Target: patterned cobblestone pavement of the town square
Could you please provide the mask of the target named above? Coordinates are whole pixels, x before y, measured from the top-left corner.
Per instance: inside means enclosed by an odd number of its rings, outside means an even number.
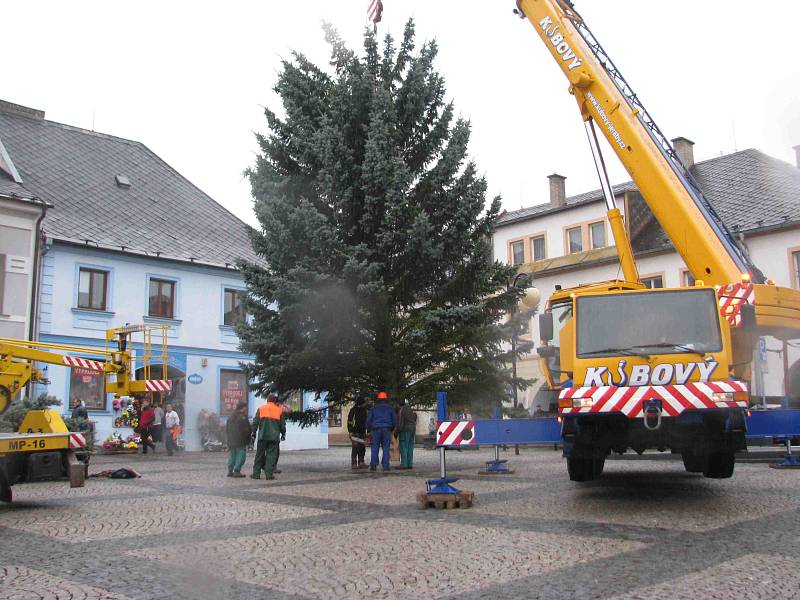
[[[476,493],[451,511],[416,507],[438,468],[422,449],[388,474],[351,472],[346,448],[284,452],[270,482],[225,477],[224,454],[96,457],[143,477],[0,504],[0,599],[800,597],[800,471],[610,460],[576,484],[542,449],[478,475],[491,454],[448,452]]]

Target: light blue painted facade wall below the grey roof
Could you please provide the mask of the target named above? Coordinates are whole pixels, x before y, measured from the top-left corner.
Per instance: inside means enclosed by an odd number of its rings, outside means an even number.
[[[107,273],[105,310],[78,306],[78,281],[81,268]],[[170,319],[148,315],[148,289],[151,278],[170,281],[174,288],[174,311]],[[241,370],[251,357],[238,349],[239,339],[232,327],[223,324],[225,289],[243,290],[239,273],[192,263],[114,252],[89,246],[53,243],[42,258],[39,294],[38,339],[43,342],[105,347],[105,330],[125,324],[166,324],[169,345],[169,377],[175,393],[184,394],[184,439],[189,450],[200,448],[197,416],[201,410],[220,413],[225,384],[223,371]],[[57,365],[41,365],[49,385],[38,392],[64,401],[70,397],[70,370]],[[72,378],[74,380],[74,377]],[[105,395],[103,408],[90,409],[95,421],[97,441],[115,431],[119,416]],[[261,399],[248,393],[249,414]],[[123,436],[131,430],[117,429]],[[300,429],[289,425],[285,449],[326,448],[327,424]]]

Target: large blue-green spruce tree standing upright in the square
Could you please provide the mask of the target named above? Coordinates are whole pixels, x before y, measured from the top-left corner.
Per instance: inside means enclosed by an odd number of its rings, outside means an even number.
[[[437,45],[416,50],[413,21],[399,47],[365,32],[363,56],[325,31],[329,68],[283,61],[283,115],[265,110],[248,171],[263,257],[241,265],[253,385],[328,392],[332,405],[378,390],[417,406],[437,390],[496,401],[511,385],[505,342],[530,315],[507,319],[522,290],[492,258],[500,199],[486,209]]]

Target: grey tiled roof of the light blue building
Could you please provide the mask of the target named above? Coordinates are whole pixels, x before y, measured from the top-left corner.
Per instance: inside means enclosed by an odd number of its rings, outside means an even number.
[[[25,188],[55,205],[48,237],[219,266],[260,262],[248,225],[140,142],[2,111],[0,139]]]

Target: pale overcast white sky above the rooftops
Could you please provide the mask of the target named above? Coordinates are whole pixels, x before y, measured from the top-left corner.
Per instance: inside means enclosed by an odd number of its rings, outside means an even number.
[[[508,210],[598,186],[567,83],[513,0],[383,0],[379,33],[436,38],[439,70],[472,122],[470,153]],[[577,0],[576,8],[670,138],[703,160],[758,148],[794,163],[800,144],[800,3]],[[326,64],[321,22],[360,48],[368,0],[25,0],[2,7],[0,98],[48,119],[146,144],[255,223],[242,171],[262,106],[293,49]],[[607,150],[613,183],[628,179]]]

